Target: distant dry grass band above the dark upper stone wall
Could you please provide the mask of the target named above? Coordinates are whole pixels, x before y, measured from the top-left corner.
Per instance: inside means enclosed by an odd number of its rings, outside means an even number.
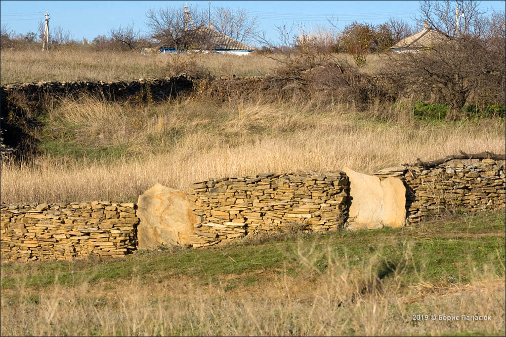
[[[162,78],[198,68],[216,76],[258,76],[277,61],[261,55],[141,55],[93,51],[2,51],[2,84],[32,81],[118,81]]]

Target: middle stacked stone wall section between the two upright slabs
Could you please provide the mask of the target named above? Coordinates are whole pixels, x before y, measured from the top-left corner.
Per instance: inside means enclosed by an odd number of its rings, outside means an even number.
[[[298,171],[212,179],[194,183],[188,200],[200,223],[194,247],[226,243],[248,234],[337,229],[347,218],[349,192],[344,172]]]

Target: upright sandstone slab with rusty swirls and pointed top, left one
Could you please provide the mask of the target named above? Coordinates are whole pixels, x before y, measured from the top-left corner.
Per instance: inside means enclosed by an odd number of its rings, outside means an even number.
[[[188,245],[196,216],[185,192],[156,184],[139,196],[137,228],[139,249],[167,245]]]

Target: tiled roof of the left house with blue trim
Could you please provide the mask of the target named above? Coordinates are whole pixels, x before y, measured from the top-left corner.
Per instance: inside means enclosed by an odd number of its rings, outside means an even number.
[[[252,51],[253,47],[223,35],[205,26],[185,31],[179,45],[191,45],[193,48],[215,51]],[[176,43],[164,44],[160,48],[174,48]]]

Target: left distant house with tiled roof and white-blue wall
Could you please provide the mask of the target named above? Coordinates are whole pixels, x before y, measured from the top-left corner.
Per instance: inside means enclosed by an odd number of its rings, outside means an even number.
[[[211,26],[212,27],[212,26]],[[200,53],[248,55],[254,48],[211,27],[185,30],[177,41],[159,47],[160,54],[196,51]]]

